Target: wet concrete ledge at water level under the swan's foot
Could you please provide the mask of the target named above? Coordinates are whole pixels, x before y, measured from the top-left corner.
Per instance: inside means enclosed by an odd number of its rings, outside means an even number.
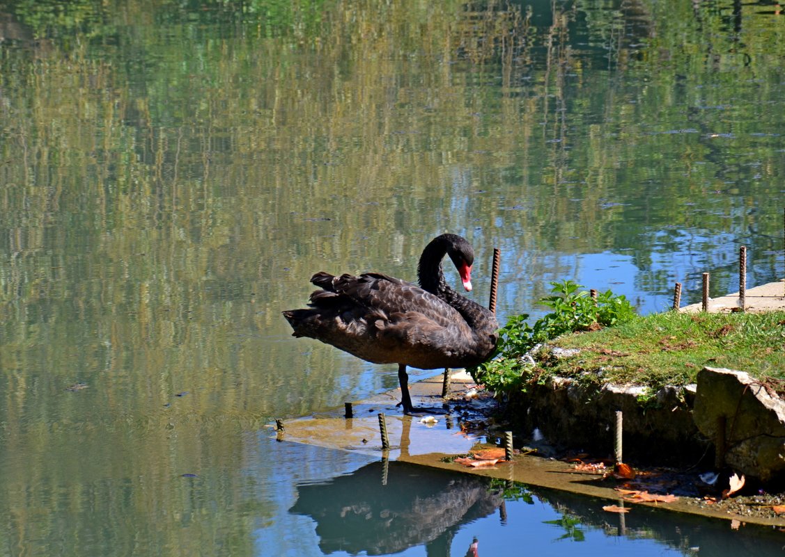
[[[487,395],[468,398],[475,386],[468,374],[453,372],[451,395],[448,401],[441,398],[442,375],[411,383],[412,400],[417,406],[442,407],[445,414],[404,416],[396,403],[400,392],[392,390],[369,400],[352,405],[353,418],[345,418],[343,409],[297,418],[284,423],[283,432],[277,432],[284,442],[307,443],[335,450],[351,450],[363,454],[389,458],[391,461],[410,462],[432,468],[442,468],[491,478],[513,480],[531,486],[542,486],[571,493],[602,497],[622,505],[653,505],[675,512],[688,512],[721,519],[736,519],[744,523],[757,523],[785,527],[785,517],[747,514],[743,505],[714,504],[698,494],[680,495],[674,502],[636,502],[623,499],[617,488],[636,487],[639,490],[658,491],[657,486],[674,486],[668,493],[679,494],[684,490],[678,486],[692,479],[680,479],[676,472],[644,472],[648,477],[640,482],[615,479],[606,468],[597,473],[576,469],[570,461],[544,456],[546,447],[537,447],[528,454],[530,447],[517,449],[512,461],[498,461],[495,465],[469,468],[455,461],[458,455],[474,450],[498,447],[493,442],[502,435],[499,426],[493,423],[492,410],[495,402]],[[378,414],[385,414],[389,437],[389,450],[382,450]],[[435,421],[434,421],[435,420]],[[651,485],[647,488],[647,481]],[[683,487],[683,486],[682,486]],[[665,490],[660,489],[663,494]],[[769,513],[773,515],[774,513]]]

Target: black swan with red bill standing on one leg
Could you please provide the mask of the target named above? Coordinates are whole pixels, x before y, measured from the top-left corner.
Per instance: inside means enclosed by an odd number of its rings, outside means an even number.
[[[309,309],[283,312],[295,337],[316,338],[371,363],[397,363],[403,412],[414,407],[406,367],[467,367],[493,353],[498,324],[490,310],[447,285],[449,255],[464,288],[472,289],[474,251],[466,239],[442,234],[422,251],[418,287],[382,273],[316,273]]]

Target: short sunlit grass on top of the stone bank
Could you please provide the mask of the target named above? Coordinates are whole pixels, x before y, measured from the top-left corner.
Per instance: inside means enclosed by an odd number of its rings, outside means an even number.
[[[596,382],[686,385],[701,368],[728,367],[785,386],[785,312],[656,313],[550,342],[580,349],[540,363],[540,374]],[[779,387],[779,388],[778,388]]]

